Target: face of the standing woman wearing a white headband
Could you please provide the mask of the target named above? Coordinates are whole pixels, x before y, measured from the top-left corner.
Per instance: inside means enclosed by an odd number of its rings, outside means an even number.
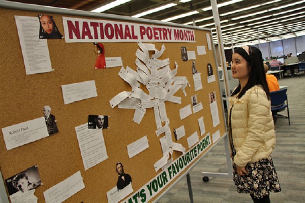
[[[238,80],[248,79],[250,67],[248,62],[238,53],[233,53],[231,64],[232,77]]]

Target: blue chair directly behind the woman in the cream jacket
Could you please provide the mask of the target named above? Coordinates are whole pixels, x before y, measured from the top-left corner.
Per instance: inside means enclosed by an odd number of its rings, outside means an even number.
[[[289,117],[289,107],[288,107],[288,98],[287,98],[287,89],[280,89],[278,91],[270,92],[271,95],[271,111],[275,117],[278,118],[288,118],[288,123],[290,125]],[[286,104],[285,104],[286,101]],[[288,116],[278,114],[279,111],[287,108]]]

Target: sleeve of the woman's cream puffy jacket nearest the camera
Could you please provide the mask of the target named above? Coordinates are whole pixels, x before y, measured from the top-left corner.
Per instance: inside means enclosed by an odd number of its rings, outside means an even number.
[[[265,91],[261,87],[252,89],[248,101],[248,132],[234,157],[236,165],[245,166],[265,142],[264,127],[269,112],[270,101],[267,99]]]

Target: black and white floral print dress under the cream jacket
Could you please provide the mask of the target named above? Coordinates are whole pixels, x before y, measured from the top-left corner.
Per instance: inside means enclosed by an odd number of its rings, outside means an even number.
[[[229,140],[232,151],[232,161],[236,155],[232,138],[231,113],[229,116]],[[263,196],[270,195],[271,191],[280,192],[281,186],[277,176],[275,165],[271,156],[266,159],[259,160],[255,163],[247,163],[245,166],[248,175],[239,176],[236,169],[236,164],[233,163],[233,181],[237,186],[239,193],[253,194],[254,198],[261,199]]]

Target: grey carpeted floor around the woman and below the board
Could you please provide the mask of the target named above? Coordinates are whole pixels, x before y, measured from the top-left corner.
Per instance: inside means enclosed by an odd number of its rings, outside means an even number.
[[[288,119],[278,118],[276,123],[275,162],[282,191],[270,195],[273,203],[305,202],[305,75],[279,80],[288,85],[288,101],[291,125]],[[286,114],[286,111],[281,112]],[[209,177],[203,182],[201,172],[227,172],[224,142],[218,143],[190,172],[194,202],[239,203],[252,202],[250,195],[236,191],[231,178]],[[186,177],[174,185],[158,203],[190,202]]]

